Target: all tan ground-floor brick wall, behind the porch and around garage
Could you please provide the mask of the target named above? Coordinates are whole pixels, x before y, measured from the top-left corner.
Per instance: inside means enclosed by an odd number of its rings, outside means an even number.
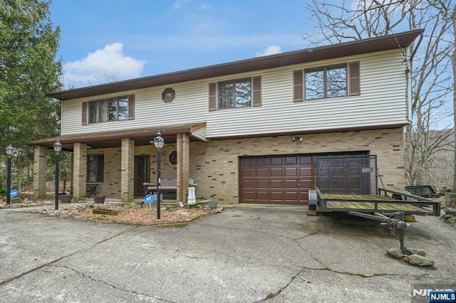
[[[227,139],[212,142],[190,142],[190,177],[198,186],[197,198],[214,198],[220,203],[238,203],[238,157],[284,154],[315,154],[340,151],[368,151],[377,155],[382,183],[391,189],[403,189],[403,130],[383,129],[358,132],[301,135],[303,142],[292,142],[293,136]],[[167,161],[176,144],[162,149],[162,178],[176,178],[177,168]],[[120,198],[121,148],[91,149],[90,154],[105,154],[105,179],[98,192]],[[150,155],[150,179],[157,175],[157,150],[153,145],[135,147],[135,155]]]

